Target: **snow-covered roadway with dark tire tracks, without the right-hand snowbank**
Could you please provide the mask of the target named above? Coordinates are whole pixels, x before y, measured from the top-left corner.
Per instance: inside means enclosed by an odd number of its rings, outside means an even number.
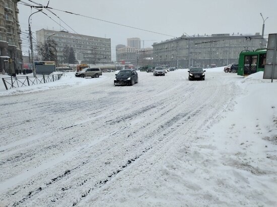
[[[187,70],[138,76],[133,86],[115,87],[114,73],[104,73],[82,84],[2,97],[0,205],[222,206],[242,196],[230,186],[210,191],[215,186],[195,184],[212,177],[193,163],[215,163],[190,151],[233,110],[242,77],[208,71],[204,81],[188,81]],[[197,193],[198,200],[189,198]],[[241,200],[251,195],[246,190]]]

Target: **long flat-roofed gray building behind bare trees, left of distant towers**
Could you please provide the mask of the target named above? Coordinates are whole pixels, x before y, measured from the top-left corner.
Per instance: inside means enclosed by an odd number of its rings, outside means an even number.
[[[1,1],[1,0],[0,0]],[[51,36],[51,37],[50,37]],[[64,31],[41,29],[36,31],[36,39],[47,44],[47,38],[57,43],[57,61],[62,63],[62,51],[67,45],[72,47],[79,63],[108,64],[111,63],[111,39],[73,34]]]

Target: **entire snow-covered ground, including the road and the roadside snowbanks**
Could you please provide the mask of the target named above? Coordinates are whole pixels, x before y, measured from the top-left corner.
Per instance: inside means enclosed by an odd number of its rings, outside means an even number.
[[[276,206],[276,80],[205,74],[1,90],[0,206]]]

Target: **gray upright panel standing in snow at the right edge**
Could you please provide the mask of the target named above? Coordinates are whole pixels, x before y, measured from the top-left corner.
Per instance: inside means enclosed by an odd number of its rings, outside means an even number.
[[[263,79],[277,79],[277,34],[269,34]]]

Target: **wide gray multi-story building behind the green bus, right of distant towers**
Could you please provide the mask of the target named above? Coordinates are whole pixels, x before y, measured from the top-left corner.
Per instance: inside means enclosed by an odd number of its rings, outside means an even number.
[[[265,48],[266,41],[255,35],[213,34],[186,36],[153,44],[154,65],[189,68],[238,63],[242,50]]]

